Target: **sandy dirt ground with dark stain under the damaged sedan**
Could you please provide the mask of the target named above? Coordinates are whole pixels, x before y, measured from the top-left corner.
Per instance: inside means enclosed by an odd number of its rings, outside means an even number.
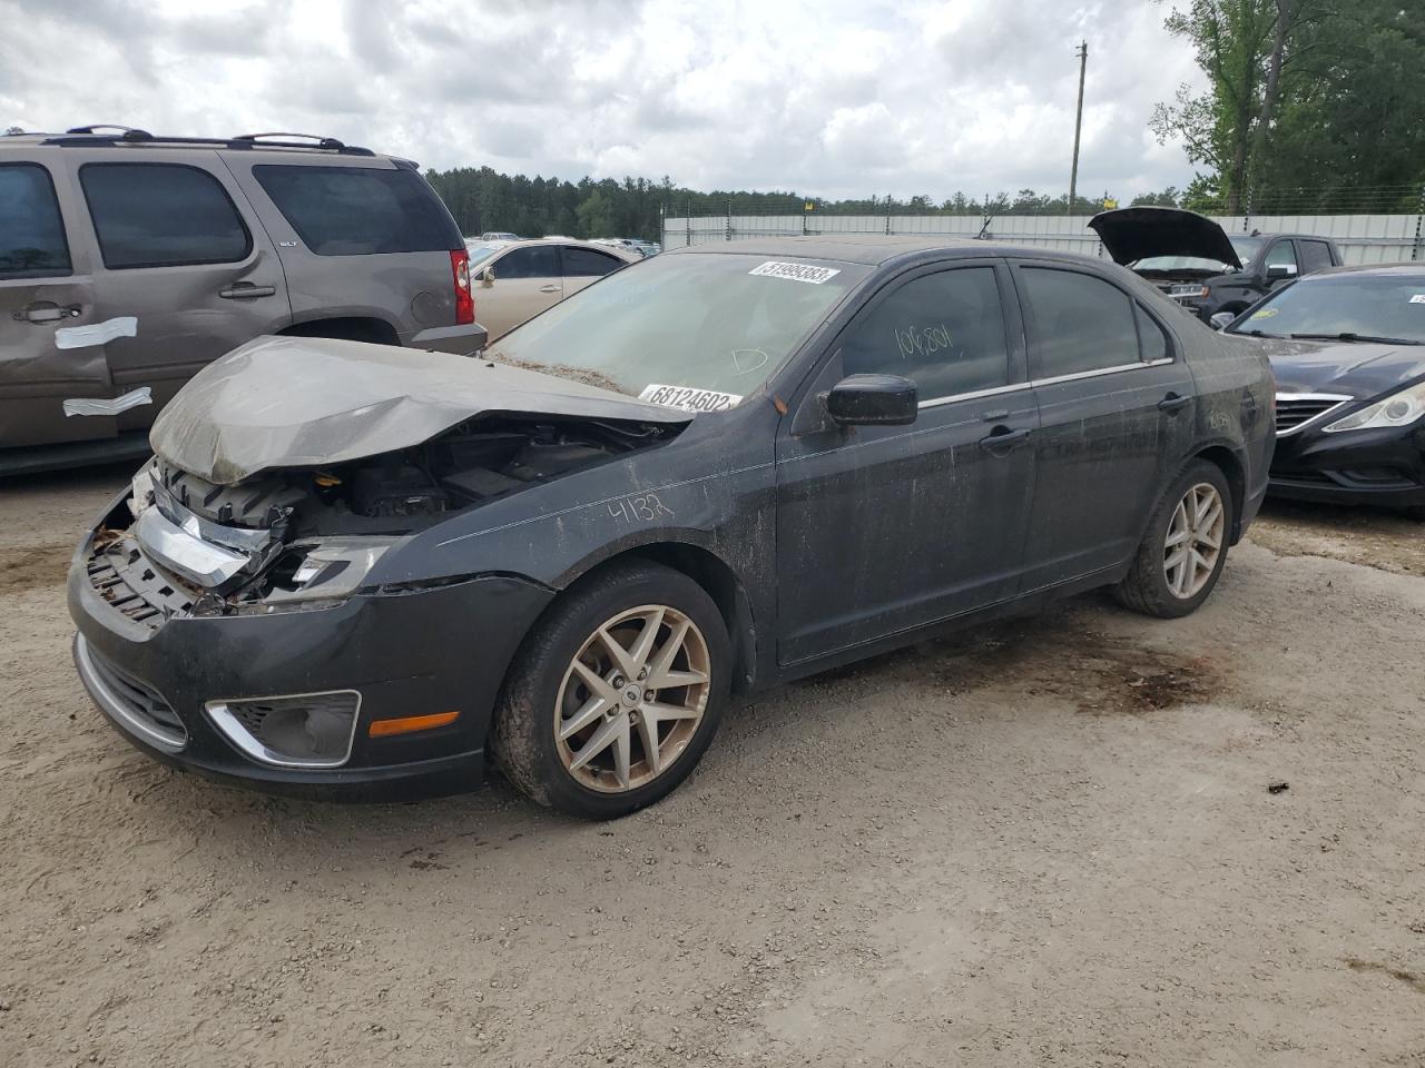
[[[0,1065],[1425,1065],[1416,524],[1273,507],[1193,618],[779,689],[594,826],[140,756],[63,598],[125,474],[0,487]]]

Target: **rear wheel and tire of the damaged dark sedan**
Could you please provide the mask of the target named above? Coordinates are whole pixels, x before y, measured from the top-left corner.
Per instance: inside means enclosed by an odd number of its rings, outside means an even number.
[[[1160,619],[1196,612],[1223,574],[1234,518],[1223,470],[1207,460],[1188,463],[1153,510],[1129,574],[1113,588],[1119,604]]]

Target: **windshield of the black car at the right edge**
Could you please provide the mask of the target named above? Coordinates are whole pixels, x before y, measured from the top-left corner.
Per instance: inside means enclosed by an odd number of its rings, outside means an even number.
[[[1425,271],[1305,278],[1278,290],[1228,333],[1425,345]]]

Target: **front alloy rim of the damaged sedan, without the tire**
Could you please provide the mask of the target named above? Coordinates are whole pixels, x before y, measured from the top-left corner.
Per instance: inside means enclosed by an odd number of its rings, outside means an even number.
[[[559,759],[591,790],[634,790],[688,748],[708,703],[708,645],[670,605],[607,619],[574,655],[554,701]]]

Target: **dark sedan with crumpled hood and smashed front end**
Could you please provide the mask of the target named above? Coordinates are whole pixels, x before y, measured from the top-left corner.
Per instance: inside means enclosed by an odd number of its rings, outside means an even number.
[[[734,692],[1093,587],[1193,611],[1273,441],[1265,359],[1121,268],[680,251],[484,359],[285,337],[202,370],[76,553],[74,655],[180,768],[342,796],[493,755],[618,816]]]

